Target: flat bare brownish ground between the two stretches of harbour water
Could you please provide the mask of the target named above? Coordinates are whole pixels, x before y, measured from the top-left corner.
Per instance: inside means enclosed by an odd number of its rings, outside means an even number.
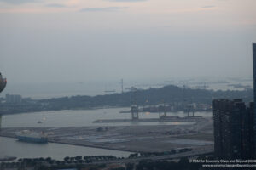
[[[15,132],[24,129],[44,131],[48,133],[49,142],[131,152],[213,149],[212,118],[201,119],[194,125],[99,127],[3,128],[0,135],[15,137]]]

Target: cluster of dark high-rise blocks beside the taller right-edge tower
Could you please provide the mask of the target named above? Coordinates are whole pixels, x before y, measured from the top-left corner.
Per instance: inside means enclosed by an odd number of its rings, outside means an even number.
[[[214,155],[221,159],[253,158],[253,103],[214,99]]]

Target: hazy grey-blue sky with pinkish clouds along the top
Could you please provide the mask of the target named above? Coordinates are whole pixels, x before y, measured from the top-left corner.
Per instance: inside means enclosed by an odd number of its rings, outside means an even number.
[[[9,82],[252,76],[255,0],[0,0]]]

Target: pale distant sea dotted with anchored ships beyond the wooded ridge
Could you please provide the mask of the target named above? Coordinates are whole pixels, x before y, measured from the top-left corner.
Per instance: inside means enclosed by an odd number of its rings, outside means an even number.
[[[154,79],[154,80],[124,80],[124,90],[127,88],[136,87],[140,89],[148,88],[161,88],[167,85],[176,85],[183,87],[183,85],[189,88],[197,88],[204,85],[207,89],[213,90],[242,90],[244,88],[234,88],[228,86],[229,84],[242,84],[249,85],[253,88],[252,77],[237,77],[234,78],[214,78],[214,77],[195,77],[195,78],[171,78],[171,79]],[[75,95],[104,95],[109,94],[106,91],[114,91],[115,93],[121,93],[120,80],[116,81],[90,81],[90,82],[38,82],[38,83],[15,83],[8,82],[8,86],[4,89],[1,96],[5,94],[20,94],[22,97],[31,97],[32,99],[49,99],[65,96]]]

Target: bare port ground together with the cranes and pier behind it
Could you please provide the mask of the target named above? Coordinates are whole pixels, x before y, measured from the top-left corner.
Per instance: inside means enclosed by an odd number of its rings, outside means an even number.
[[[136,94],[136,90],[134,91]],[[213,150],[212,117],[195,116],[187,107],[187,116],[167,116],[165,107],[159,106],[159,118],[139,117],[136,95],[131,105],[130,119],[95,120],[98,126],[87,127],[5,127],[3,137],[16,138],[16,133],[32,131],[47,134],[48,142],[73,144],[130,152],[164,152],[192,149]],[[105,126],[102,122],[108,122]],[[133,122],[132,126],[114,126],[116,122]],[[137,122],[173,122],[171,125],[143,125]]]

